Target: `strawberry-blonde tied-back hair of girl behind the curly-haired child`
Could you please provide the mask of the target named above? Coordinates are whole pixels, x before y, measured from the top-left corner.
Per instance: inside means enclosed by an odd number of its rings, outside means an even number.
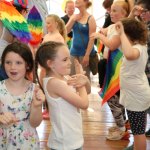
[[[130,6],[129,3],[125,0],[116,0],[113,2],[113,5],[119,5],[122,7],[122,9],[125,11],[126,13],[126,17],[129,15],[130,13]]]

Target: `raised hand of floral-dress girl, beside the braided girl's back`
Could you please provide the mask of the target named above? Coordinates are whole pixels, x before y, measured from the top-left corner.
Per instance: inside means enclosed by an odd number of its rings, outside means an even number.
[[[35,88],[33,96],[33,105],[34,107],[39,107],[45,101],[45,95],[41,89]]]

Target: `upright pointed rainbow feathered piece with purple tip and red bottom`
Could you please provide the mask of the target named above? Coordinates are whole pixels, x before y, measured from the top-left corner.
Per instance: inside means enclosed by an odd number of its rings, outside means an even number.
[[[43,37],[43,22],[39,11],[35,6],[29,12],[28,18],[28,28],[32,35],[29,43],[31,45],[38,45],[42,41]]]

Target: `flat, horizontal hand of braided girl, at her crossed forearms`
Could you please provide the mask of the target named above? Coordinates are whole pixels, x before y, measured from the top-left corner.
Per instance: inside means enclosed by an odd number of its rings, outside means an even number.
[[[88,82],[89,82],[88,77],[83,74],[73,75],[67,81],[68,85],[74,86],[75,88],[85,86]]]

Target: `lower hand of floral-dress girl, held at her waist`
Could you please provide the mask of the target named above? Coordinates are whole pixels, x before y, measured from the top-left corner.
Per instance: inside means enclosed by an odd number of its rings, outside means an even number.
[[[4,114],[0,115],[0,123],[3,125],[11,125],[17,122],[17,118],[14,114],[10,112],[5,112]]]

